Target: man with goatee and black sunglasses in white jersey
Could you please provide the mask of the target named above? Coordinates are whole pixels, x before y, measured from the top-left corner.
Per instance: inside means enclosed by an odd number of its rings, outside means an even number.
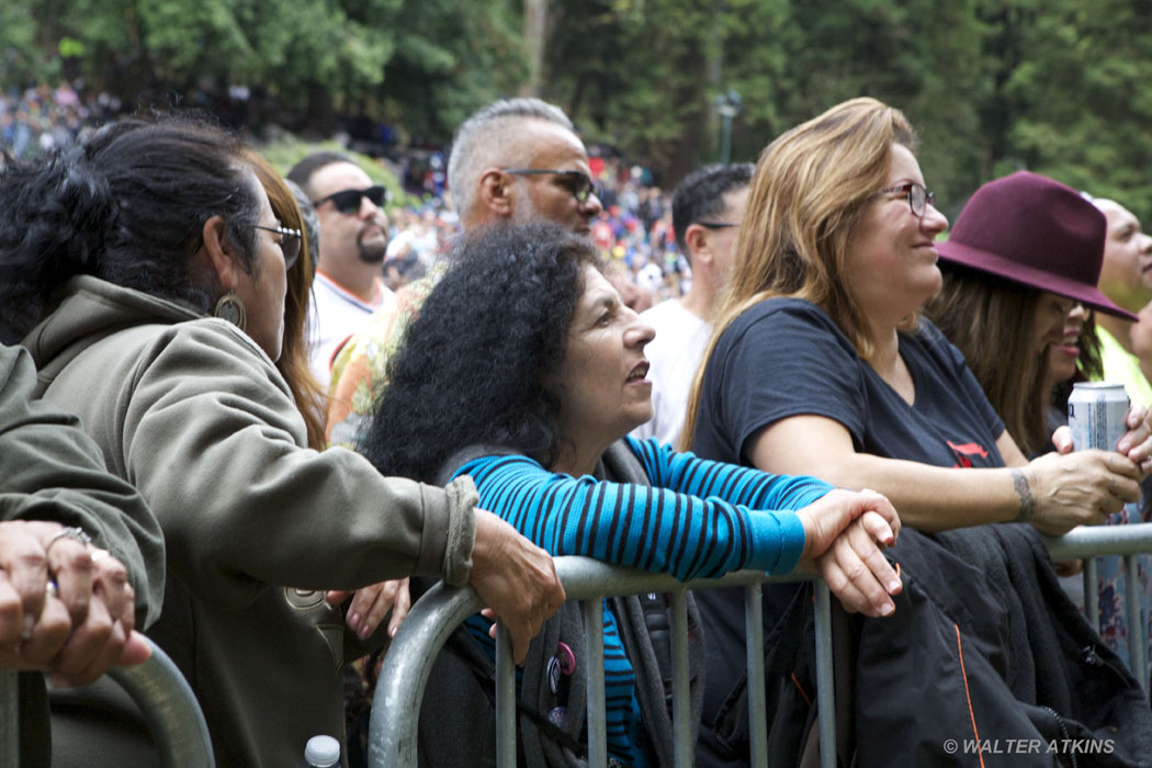
[[[288,178],[308,195],[320,225],[311,368],[326,388],[340,343],[393,301],[382,279],[388,190],[340,152],[313,152],[293,167]]]

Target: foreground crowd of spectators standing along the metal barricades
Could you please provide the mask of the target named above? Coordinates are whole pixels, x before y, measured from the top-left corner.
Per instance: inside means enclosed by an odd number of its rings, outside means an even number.
[[[669,196],[520,98],[458,127],[450,210],[392,207],[340,152],[282,177],[180,115],[9,161],[0,659],[26,687],[21,765],[157,763],[101,677],[146,657],[141,632],[219,765],[294,765],[318,733],[363,765],[372,660],[441,579],[487,607],[433,671],[422,765],[494,763],[498,619],[520,761],[584,765],[586,628],[560,555],[818,573],[843,765],[967,765],[947,746],[965,738],[1079,745],[1013,765],[1105,742],[1107,765],[1147,765],[1127,628],[1090,628],[1040,535],[1147,519],[1152,238],[1018,173],[945,239],[915,152],[899,109],[852,99]],[[1074,446],[1068,382],[1121,375],[1127,432]],[[763,601],[770,750],[798,765],[811,592]],[[744,608],[689,599],[697,765],[750,765]],[[602,603],[620,765],[672,765],[668,611]]]

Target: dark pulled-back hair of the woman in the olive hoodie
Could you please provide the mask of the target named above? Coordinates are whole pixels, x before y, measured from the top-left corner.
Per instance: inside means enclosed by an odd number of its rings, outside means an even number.
[[[243,144],[191,116],[112,123],[78,146],[0,170],[0,341],[16,343],[54,292],[89,274],[205,312],[214,275],[192,263],[203,225],[256,269],[259,198]]]

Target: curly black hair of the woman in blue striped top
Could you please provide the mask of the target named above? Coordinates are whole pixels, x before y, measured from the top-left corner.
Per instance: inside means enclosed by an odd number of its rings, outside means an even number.
[[[594,246],[554,223],[501,223],[465,236],[455,265],[387,366],[359,450],[384,474],[432,482],[454,451],[511,448],[548,466],[560,401],[544,386]]]

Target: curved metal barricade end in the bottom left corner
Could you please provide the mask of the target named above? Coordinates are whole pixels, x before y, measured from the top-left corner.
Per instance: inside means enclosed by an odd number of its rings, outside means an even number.
[[[151,642],[151,640],[149,641]],[[0,671],[0,768],[20,766],[20,701],[16,672]],[[165,768],[214,768],[212,739],[188,680],[164,651],[135,667],[108,670],[132,698],[147,722]]]

